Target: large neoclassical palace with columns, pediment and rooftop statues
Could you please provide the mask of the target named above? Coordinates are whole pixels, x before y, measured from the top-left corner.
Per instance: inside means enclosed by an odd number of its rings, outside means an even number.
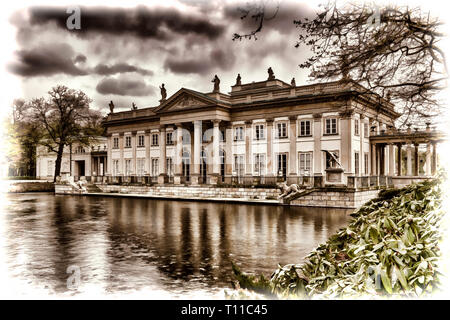
[[[245,84],[239,76],[223,93],[213,81],[212,92],[181,88],[167,98],[163,86],[155,107],[114,112],[111,102],[107,175],[197,185],[232,177],[295,180],[333,166],[345,176],[381,173],[386,157],[376,155],[370,136],[389,130],[399,114],[358,84],[296,86],[269,72],[267,80]]]

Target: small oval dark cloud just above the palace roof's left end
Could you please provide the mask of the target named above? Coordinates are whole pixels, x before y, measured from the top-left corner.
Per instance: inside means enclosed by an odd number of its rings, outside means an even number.
[[[154,95],[155,88],[147,85],[142,80],[105,78],[101,80],[97,87],[97,92],[101,94],[114,94],[119,96],[148,96]]]

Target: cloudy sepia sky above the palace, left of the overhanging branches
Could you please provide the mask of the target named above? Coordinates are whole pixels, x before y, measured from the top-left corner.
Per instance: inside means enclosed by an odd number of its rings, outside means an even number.
[[[69,30],[67,6],[30,6],[16,10],[9,22],[16,30],[16,50],[7,70],[19,77],[22,98],[44,96],[56,84],[83,90],[104,112],[158,105],[159,86],[168,96],[181,87],[212,91],[215,74],[228,93],[242,82],[267,78],[267,68],[286,82],[306,83],[298,64],[307,56],[295,48],[294,19],[312,16],[315,7],[300,1],[266,0],[258,40],[232,41],[234,33],[257,26],[241,19],[247,2],[178,0],[165,5],[80,6],[81,29]],[[251,2],[250,2],[251,3]]]

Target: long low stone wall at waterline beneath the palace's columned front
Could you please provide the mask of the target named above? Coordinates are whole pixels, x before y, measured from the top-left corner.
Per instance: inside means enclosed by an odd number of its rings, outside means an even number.
[[[117,186],[96,184],[104,193],[142,194],[146,196],[173,197],[173,198],[241,198],[275,200],[280,194],[278,189],[269,188],[220,188],[212,186]],[[57,194],[78,194],[71,185],[58,184],[55,189]]]

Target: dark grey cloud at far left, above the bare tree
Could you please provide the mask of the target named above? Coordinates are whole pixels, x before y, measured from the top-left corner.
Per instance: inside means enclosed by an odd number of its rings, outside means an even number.
[[[40,45],[30,50],[16,52],[17,61],[10,63],[10,72],[25,77],[51,76],[54,74],[69,74],[81,76],[85,70],[75,65],[75,52],[68,44]]]

